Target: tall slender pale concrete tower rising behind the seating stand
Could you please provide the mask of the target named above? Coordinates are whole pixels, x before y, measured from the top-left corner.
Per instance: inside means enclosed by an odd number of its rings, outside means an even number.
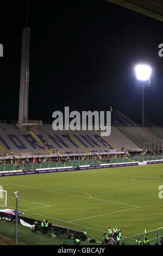
[[[28,123],[30,27],[23,28],[18,125]]]

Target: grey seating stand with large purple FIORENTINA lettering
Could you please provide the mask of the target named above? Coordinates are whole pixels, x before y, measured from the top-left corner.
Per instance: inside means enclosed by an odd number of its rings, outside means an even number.
[[[125,136],[116,127],[111,126],[111,135],[101,137],[101,131],[54,131],[52,124],[44,124],[37,131],[20,130],[14,124],[0,123],[1,155],[42,153],[49,154],[53,150],[59,153],[90,152],[108,149],[139,149],[140,147]],[[43,142],[46,141],[46,148]]]

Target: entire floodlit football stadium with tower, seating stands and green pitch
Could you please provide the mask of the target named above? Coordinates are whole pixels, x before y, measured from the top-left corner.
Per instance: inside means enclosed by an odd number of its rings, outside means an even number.
[[[161,20],[161,11],[141,8]],[[54,130],[53,122],[30,120],[29,52],[27,26],[18,120],[0,120],[0,244],[161,245],[163,126],[145,123],[143,108],[137,124],[110,107],[108,136],[95,123]],[[150,82],[140,78],[139,86]]]

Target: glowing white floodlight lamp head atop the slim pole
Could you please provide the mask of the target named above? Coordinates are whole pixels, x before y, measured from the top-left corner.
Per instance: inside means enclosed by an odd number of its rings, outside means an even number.
[[[151,76],[151,68],[147,65],[137,65],[135,68],[137,80],[146,81]]]

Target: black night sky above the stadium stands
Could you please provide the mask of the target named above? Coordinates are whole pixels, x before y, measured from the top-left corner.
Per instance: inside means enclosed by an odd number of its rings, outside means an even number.
[[[22,28],[26,1],[1,8],[1,120],[18,119]],[[52,121],[65,106],[78,111],[119,109],[141,123],[136,64],[152,66],[145,117],[163,125],[163,22],[104,0],[29,0],[29,119]]]

